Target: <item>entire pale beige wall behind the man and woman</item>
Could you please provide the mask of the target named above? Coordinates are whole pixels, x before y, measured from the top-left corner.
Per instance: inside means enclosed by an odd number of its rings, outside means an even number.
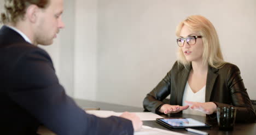
[[[65,2],[66,29],[46,50],[69,95],[142,107],[176,61],[178,22],[200,14],[216,27],[225,61],[240,68],[256,99],[255,0]]]

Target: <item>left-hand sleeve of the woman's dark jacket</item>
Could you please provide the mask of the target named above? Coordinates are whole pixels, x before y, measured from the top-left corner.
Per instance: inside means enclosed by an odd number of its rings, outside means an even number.
[[[177,62],[174,63],[173,67],[177,66]],[[172,67],[172,69],[173,69]],[[153,113],[159,113],[158,110],[165,103],[162,102],[168,95],[170,95],[171,90],[171,72],[168,72],[164,79],[160,81],[156,87],[150,91],[144,98],[143,107],[148,111]]]

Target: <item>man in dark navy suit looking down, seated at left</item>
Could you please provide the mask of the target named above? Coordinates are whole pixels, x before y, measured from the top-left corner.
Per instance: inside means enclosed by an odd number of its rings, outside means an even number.
[[[36,45],[50,45],[61,28],[63,0],[5,0],[0,30],[0,132],[37,134],[40,124],[56,134],[133,134],[135,114],[97,118],[68,97],[53,62]]]

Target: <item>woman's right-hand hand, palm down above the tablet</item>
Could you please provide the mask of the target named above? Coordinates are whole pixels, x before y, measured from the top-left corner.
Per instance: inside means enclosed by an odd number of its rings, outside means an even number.
[[[217,105],[213,102],[191,102],[191,101],[185,101],[188,105],[190,105],[191,109],[201,111],[205,114],[213,114],[217,110]]]

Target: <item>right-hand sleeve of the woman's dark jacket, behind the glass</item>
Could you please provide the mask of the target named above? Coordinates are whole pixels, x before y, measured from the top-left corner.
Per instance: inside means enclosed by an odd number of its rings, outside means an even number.
[[[253,122],[255,120],[255,114],[252,109],[252,102],[248,96],[245,85],[243,84],[239,68],[232,65],[226,78],[232,105],[219,102],[214,103],[217,104],[217,107],[235,107],[236,121]]]

